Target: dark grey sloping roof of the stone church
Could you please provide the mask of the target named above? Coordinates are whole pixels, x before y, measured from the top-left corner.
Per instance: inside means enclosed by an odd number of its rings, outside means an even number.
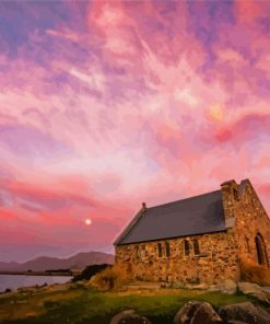
[[[225,231],[221,190],[140,210],[116,245]]]

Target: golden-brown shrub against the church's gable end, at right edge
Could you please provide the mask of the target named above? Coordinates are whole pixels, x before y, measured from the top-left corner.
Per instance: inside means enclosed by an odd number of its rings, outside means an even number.
[[[240,280],[258,284],[260,286],[270,285],[270,268],[258,265],[255,262],[240,261]]]

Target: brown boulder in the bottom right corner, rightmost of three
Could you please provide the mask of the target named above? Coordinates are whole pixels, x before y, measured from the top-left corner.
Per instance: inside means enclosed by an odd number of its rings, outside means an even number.
[[[223,306],[219,310],[219,315],[225,321],[225,323],[232,323],[232,321],[248,324],[270,323],[270,314],[261,308],[256,308],[251,302],[242,302]]]

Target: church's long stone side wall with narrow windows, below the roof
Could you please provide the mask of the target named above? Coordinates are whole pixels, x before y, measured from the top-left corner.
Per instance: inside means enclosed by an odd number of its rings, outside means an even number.
[[[190,245],[185,255],[184,240]],[[193,240],[198,240],[200,255],[195,255]],[[157,244],[163,256],[159,257]],[[165,244],[169,244],[166,256]],[[195,235],[116,246],[116,263],[125,266],[131,278],[145,281],[219,284],[225,279],[238,280],[237,246],[232,230],[213,234]]]

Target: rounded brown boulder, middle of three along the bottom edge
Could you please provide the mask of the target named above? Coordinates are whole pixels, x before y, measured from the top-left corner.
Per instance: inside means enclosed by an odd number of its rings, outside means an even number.
[[[174,324],[218,324],[223,323],[208,302],[190,301],[175,315]]]

